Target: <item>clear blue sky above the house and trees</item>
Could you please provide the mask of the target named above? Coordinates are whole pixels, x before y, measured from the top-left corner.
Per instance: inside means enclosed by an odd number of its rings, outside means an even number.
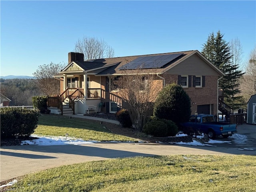
[[[256,45],[256,1],[0,1],[0,75],[28,75],[67,63],[84,36],[115,56],[202,50],[218,30],[238,38],[245,61]]]

